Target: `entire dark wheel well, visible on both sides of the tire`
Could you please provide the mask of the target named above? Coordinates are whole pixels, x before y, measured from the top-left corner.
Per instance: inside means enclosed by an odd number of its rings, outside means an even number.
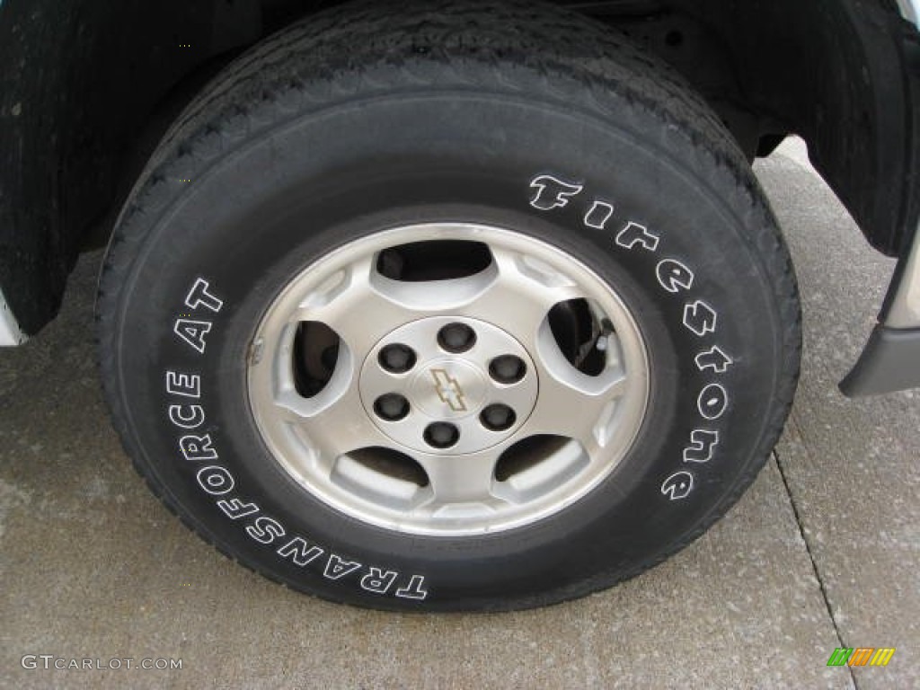
[[[17,68],[0,76],[0,285],[26,333],[56,312],[76,254],[105,241],[146,156],[203,83],[262,37],[336,4],[3,3],[0,63]],[[905,186],[920,125],[910,84],[892,78],[906,74],[904,46],[916,49],[893,0],[558,4],[670,63],[750,158],[801,134],[871,243],[896,253],[917,214],[903,200],[918,196]]]

